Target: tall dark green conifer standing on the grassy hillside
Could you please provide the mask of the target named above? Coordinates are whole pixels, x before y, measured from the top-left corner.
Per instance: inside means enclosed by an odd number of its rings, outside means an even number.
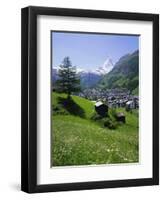
[[[65,57],[58,70],[59,79],[56,82],[56,89],[59,92],[68,94],[80,91],[80,79],[76,73],[76,67],[72,66],[70,58]]]

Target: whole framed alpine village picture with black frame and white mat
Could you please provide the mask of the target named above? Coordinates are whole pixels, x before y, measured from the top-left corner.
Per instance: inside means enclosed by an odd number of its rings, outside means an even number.
[[[28,193],[159,184],[159,15],[22,9]]]

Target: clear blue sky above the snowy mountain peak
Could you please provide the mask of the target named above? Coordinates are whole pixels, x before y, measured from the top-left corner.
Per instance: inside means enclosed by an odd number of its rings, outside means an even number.
[[[74,66],[92,70],[103,65],[107,58],[113,63],[139,49],[139,37],[134,35],[52,33],[52,66],[58,67],[65,56]]]

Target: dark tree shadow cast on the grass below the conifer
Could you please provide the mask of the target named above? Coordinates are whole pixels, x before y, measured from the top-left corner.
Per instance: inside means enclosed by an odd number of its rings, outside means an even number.
[[[85,118],[85,112],[83,108],[81,108],[71,97],[58,97],[58,103],[61,104],[71,115]]]

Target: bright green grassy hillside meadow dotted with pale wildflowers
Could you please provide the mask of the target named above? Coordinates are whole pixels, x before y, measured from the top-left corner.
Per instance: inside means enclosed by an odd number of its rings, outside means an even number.
[[[52,93],[52,165],[138,162],[138,113],[126,114],[115,130],[91,120],[94,104],[84,98]]]

